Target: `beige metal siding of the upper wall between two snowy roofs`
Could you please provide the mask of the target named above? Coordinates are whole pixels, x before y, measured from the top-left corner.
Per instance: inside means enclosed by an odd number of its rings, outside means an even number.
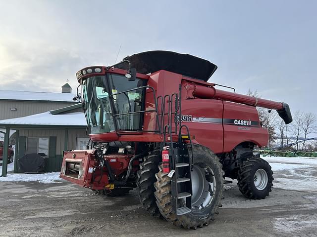
[[[74,105],[72,102],[45,102],[45,101],[0,101],[0,120],[7,118],[19,118],[34,114],[44,113],[50,110]],[[16,111],[10,111],[16,108]]]

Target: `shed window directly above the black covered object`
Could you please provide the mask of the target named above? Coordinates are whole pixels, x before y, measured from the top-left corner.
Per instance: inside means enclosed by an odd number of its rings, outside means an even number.
[[[26,154],[39,154],[41,156],[49,155],[49,138],[48,137],[28,137]]]

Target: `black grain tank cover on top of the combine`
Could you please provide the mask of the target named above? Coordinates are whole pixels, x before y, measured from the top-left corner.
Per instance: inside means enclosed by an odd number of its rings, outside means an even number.
[[[127,56],[124,59],[129,60],[131,68],[135,68],[138,73],[148,74],[166,70],[204,81],[207,81],[217,69],[216,65],[205,59],[171,51],[142,52]],[[127,62],[119,63],[115,67],[129,69]]]

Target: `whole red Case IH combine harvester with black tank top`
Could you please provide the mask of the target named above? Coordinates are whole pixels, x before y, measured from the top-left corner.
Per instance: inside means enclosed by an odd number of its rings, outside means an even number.
[[[289,106],[219,90],[217,66],[188,54],[149,51],[76,77],[89,150],[64,152],[60,177],[108,196],[136,188],[153,216],[186,229],[217,213],[224,177],[248,198],[268,196],[269,164],[253,153],[268,142],[256,107],[292,121]]]

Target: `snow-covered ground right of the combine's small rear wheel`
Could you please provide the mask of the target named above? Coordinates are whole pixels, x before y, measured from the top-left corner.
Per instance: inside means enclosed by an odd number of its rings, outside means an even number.
[[[263,157],[274,172],[274,187],[286,190],[317,191],[317,158]]]

